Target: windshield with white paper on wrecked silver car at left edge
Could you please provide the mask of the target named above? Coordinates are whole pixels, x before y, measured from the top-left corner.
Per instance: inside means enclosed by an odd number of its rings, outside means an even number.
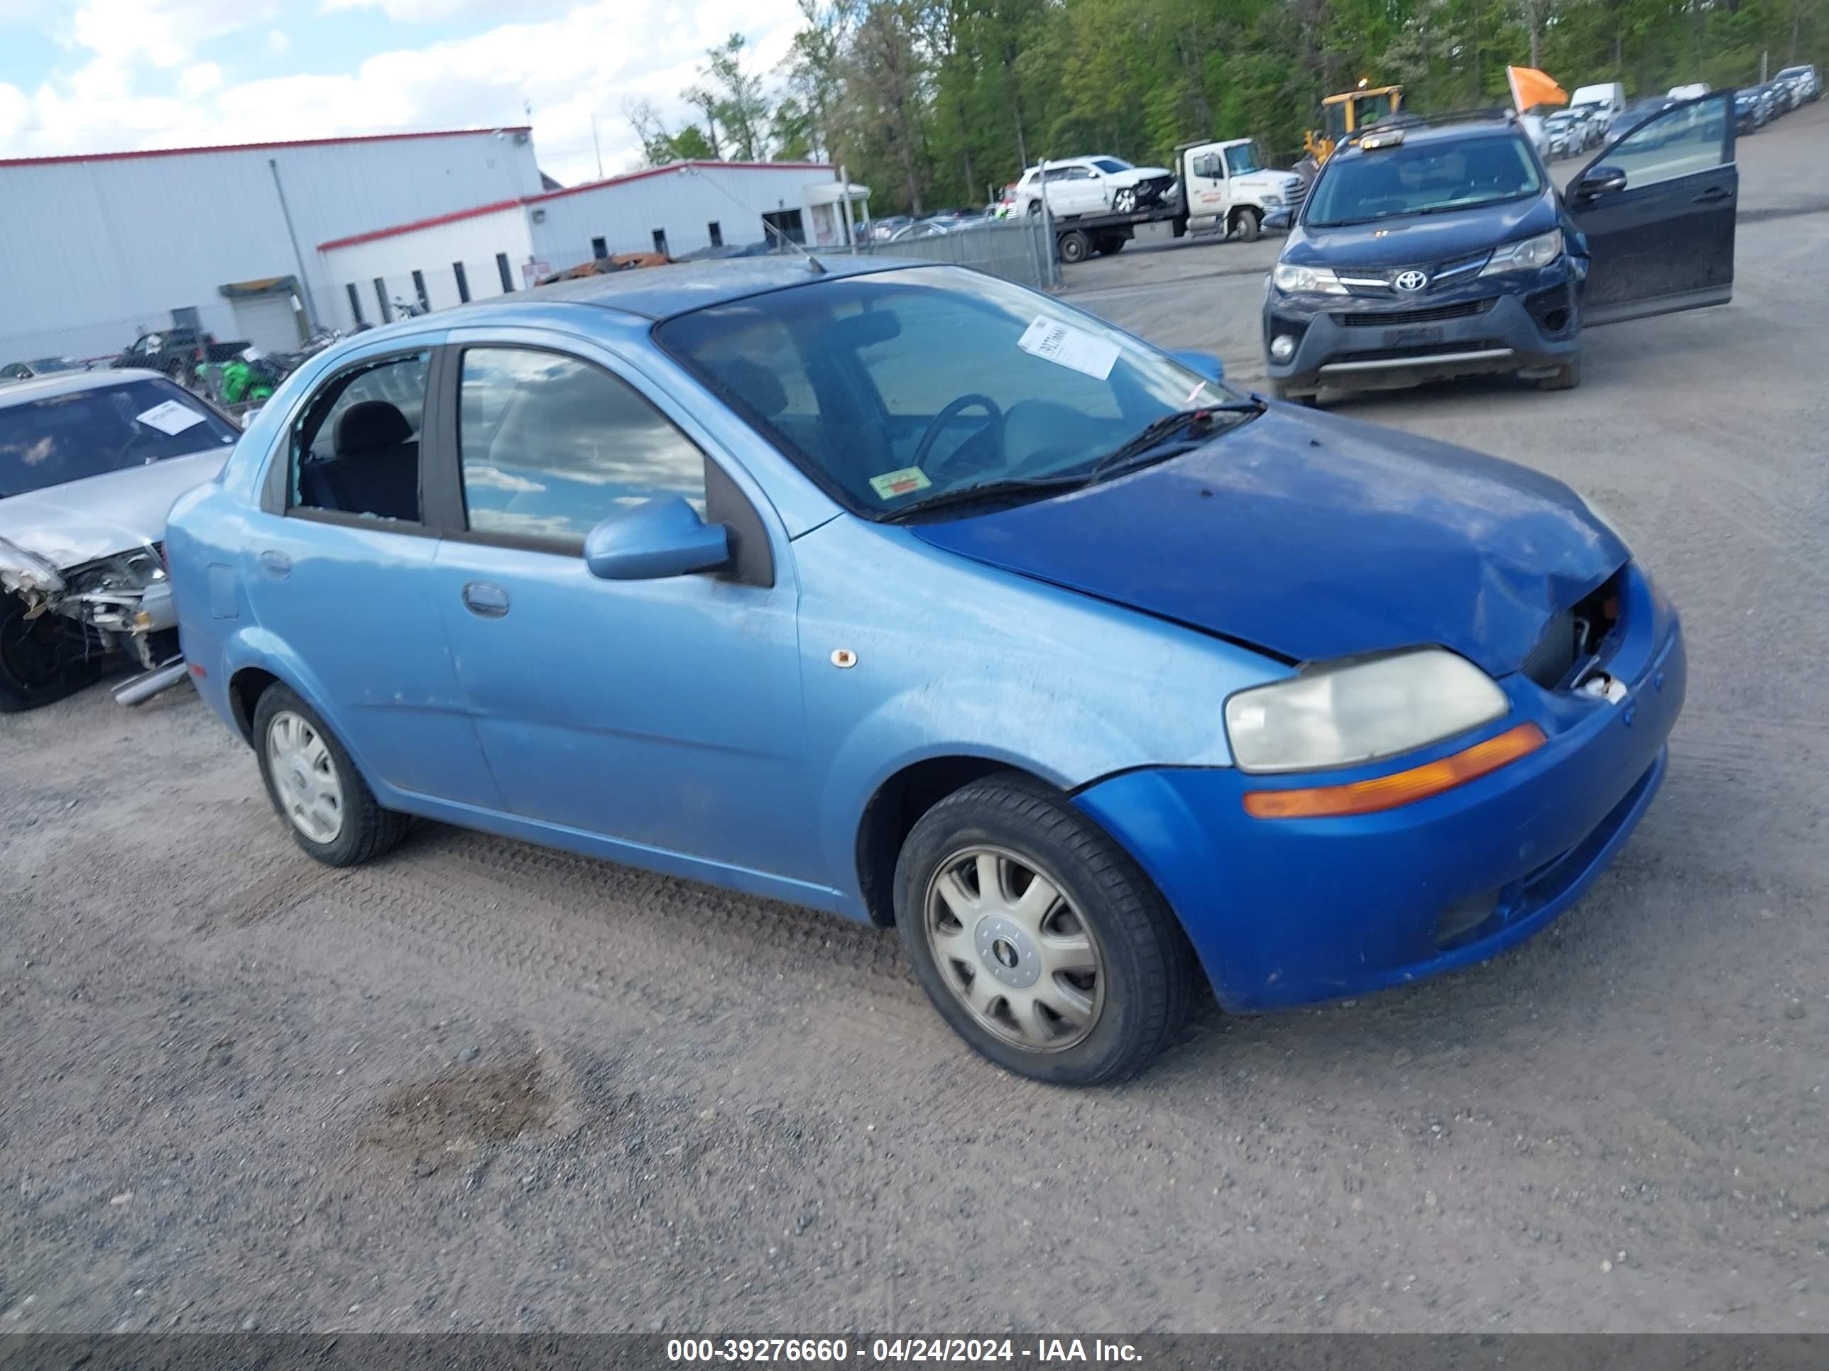
[[[168,380],[0,406],[0,497],[229,446],[240,431]]]

